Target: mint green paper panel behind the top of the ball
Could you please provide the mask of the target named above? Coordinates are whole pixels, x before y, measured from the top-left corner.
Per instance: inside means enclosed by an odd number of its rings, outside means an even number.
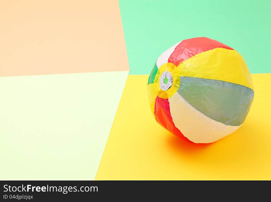
[[[119,0],[130,74],[150,74],[177,42],[216,39],[243,55],[250,73],[271,73],[271,1]]]

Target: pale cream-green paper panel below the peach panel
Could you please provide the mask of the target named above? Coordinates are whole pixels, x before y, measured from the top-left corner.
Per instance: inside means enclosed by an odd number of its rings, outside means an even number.
[[[0,77],[0,180],[94,180],[127,75]]]

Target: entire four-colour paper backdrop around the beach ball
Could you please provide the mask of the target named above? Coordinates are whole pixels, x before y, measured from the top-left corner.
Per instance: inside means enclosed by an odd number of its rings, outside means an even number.
[[[270,74],[253,75],[244,125],[210,145],[167,132],[147,100],[154,62],[182,39],[214,38],[251,73],[271,73],[270,9],[263,0],[1,1],[0,179],[271,179]],[[127,79],[129,66],[138,75]]]

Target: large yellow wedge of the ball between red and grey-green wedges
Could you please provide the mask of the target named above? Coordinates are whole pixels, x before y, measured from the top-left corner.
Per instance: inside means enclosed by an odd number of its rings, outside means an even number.
[[[227,81],[252,89],[244,58],[235,50],[216,48],[199,53],[178,65],[181,76]]]

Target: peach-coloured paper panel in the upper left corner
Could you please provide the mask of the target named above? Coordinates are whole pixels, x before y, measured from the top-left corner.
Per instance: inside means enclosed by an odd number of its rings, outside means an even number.
[[[117,0],[4,0],[0,28],[0,76],[129,70]]]

